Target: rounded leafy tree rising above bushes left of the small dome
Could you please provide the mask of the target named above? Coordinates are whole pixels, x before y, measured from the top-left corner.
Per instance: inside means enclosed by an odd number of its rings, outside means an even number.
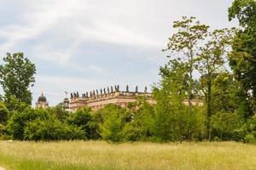
[[[5,63],[0,65],[0,83],[6,103],[9,103],[11,96],[15,96],[20,102],[31,105],[32,92],[28,88],[35,82],[36,66],[23,53],[8,53],[3,61]]]

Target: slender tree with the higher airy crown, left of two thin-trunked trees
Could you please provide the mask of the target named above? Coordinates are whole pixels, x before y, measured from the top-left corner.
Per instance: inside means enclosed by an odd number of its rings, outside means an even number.
[[[188,73],[187,96],[189,115],[192,115],[191,99],[195,84],[193,72],[195,71],[195,61],[201,47],[201,42],[207,36],[208,26],[195,21],[195,17],[183,17],[183,20],[174,21],[173,27],[177,29],[177,33],[169,38],[166,50],[171,52],[171,56],[168,57],[182,59],[185,64],[186,72]]]

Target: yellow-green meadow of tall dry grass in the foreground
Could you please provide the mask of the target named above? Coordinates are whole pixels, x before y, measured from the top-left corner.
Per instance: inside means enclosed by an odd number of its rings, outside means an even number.
[[[0,141],[0,167],[27,169],[256,169],[256,145]]]

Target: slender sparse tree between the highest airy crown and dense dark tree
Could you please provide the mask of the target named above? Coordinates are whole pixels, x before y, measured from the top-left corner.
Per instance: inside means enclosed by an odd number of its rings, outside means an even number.
[[[235,29],[221,29],[209,32],[207,42],[201,48],[200,57],[197,58],[196,68],[201,73],[201,91],[205,95],[207,108],[206,123],[208,134],[210,133],[210,117],[212,116],[212,82],[228,59],[234,31]]]

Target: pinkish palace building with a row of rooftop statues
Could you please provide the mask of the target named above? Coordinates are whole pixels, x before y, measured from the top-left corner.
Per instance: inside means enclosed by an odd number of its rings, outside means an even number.
[[[114,88],[110,87],[93,90],[90,93],[87,92],[82,94],[82,96],[79,96],[78,92],[73,93],[71,94],[69,109],[71,111],[77,111],[84,106],[90,106],[92,110],[96,111],[104,108],[104,106],[108,104],[116,104],[126,107],[129,103],[136,102],[137,97],[139,96],[145,97],[151,105],[155,103],[151,93],[147,92],[147,87],[145,87],[144,92],[138,92],[137,87],[134,92],[130,92],[127,85],[125,91],[120,91],[119,86],[115,86]]]

